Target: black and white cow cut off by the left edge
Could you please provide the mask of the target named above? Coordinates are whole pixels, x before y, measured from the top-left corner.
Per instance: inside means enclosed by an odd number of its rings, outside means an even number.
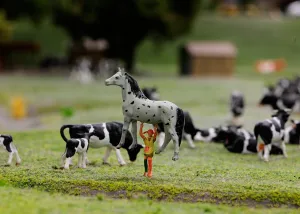
[[[21,158],[19,156],[18,150],[16,146],[13,144],[13,138],[11,135],[0,135],[0,145],[3,146],[3,148],[9,153],[8,161],[7,161],[7,166],[11,165],[13,155],[15,154],[16,156],[16,165],[21,164]]]

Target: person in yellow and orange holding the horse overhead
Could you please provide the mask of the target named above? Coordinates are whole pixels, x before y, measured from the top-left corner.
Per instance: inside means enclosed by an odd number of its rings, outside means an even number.
[[[156,141],[157,136],[157,125],[154,126],[154,131],[149,129],[148,131],[143,132],[144,123],[141,123],[140,126],[140,136],[144,141],[144,167],[145,173],[144,176],[152,177],[152,158],[154,155],[154,142]],[[147,133],[147,137],[144,135]]]

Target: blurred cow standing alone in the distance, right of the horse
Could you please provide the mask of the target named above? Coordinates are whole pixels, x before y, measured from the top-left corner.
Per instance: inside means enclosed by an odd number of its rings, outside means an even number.
[[[234,125],[238,124],[238,119],[243,115],[245,107],[244,96],[239,91],[233,91],[230,97],[230,112],[232,114]]]

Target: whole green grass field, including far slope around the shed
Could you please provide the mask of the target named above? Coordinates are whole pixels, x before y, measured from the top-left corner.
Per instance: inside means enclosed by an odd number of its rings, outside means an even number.
[[[153,77],[137,80],[140,86],[157,86],[161,99],[189,111],[200,128],[224,123],[228,117],[229,94],[238,89],[246,97],[245,127],[253,130],[254,123],[270,117],[270,109],[257,107],[263,86],[280,76],[298,73],[299,33],[297,20],[199,16],[187,36],[160,49],[149,40],[140,45],[138,66],[149,70]],[[28,22],[19,22],[14,37],[40,41],[39,57],[64,55],[68,43],[64,32],[47,22],[36,29]],[[178,68],[178,45],[206,39],[230,40],[237,45],[235,76],[206,80],[177,78],[174,74]],[[268,76],[253,72],[255,60],[279,57],[286,58],[286,71]],[[271,156],[271,161],[264,163],[256,155],[229,153],[221,144],[197,143],[197,148],[191,150],[183,142],[180,159],[173,162],[170,143],[164,153],[154,157],[151,180],[142,176],[142,152],[135,163],[119,167],[113,153],[109,159],[111,166],[104,166],[101,164],[104,149],[90,149],[92,165],[86,170],[76,167],[60,170],[57,168],[64,151],[60,126],[122,121],[120,89],[106,87],[103,81],[79,85],[66,77],[1,76],[0,105],[5,110],[9,110],[14,95],[24,96],[37,109],[42,130],[20,131],[23,130],[21,122],[8,123],[0,114],[1,133],[13,135],[23,160],[20,167],[0,167],[0,213],[20,210],[22,213],[299,212],[297,146],[288,145],[288,159]],[[68,106],[75,109],[75,115],[63,119],[60,109]],[[299,119],[299,115],[293,118]],[[128,160],[125,151],[122,154]],[[6,160],[7,153],[0,150],[0,164]]]

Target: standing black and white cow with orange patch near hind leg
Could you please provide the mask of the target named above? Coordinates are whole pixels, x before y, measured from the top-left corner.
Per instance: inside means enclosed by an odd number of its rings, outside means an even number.
[[[272,145],[278,144],[284,157],[287,157],[284,138],[284,126],[290,116],[290,110],[279,109],[272,115],[272,119],[259,122],[254,127],[257,140],[257,151],[260,159],[269,161]],[[264,155],[262,151],[264,150]]]

